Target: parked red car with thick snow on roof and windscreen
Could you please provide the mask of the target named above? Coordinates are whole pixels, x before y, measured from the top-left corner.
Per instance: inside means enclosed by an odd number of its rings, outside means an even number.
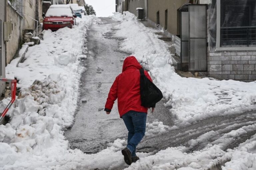
[[[75,25],[75,18],[76,15],[69,6],[51,5],[45,14],[43,29],[56,31],[64,27],[72,28]]]

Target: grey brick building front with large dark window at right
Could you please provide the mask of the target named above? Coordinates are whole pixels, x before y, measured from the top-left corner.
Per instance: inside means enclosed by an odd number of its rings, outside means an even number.
[[[211,0],[208,6],[208,76],[256,81],[256,1]]]

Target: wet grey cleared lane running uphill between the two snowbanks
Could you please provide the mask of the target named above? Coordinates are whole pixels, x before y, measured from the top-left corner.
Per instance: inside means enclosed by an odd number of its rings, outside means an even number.
[[[122,71],[123,58],[129,56],[118,50],[121,40],[112,38],[115,32],[113,27],[117,24],[111,18],[96,18],[87,36],[89,54],[82,62],[87,71],[82,74],[80,85],[81,99],[87,102],[79,103],[75,123],[65,132],[71,148],[85,153],[97,153],[105,149],[109,142],[127,137],[117,105],[114,104],[109,115],[104,111],[108,91]],[[172,125],[163,103],[158,103],[155,113],[148,115],[148,122],[159,119],[165,125]]]

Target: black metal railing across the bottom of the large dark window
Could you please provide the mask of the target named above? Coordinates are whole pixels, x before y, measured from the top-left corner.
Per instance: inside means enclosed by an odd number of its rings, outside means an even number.
[[[256,46],[256,27],[221,27],[221,47]]]

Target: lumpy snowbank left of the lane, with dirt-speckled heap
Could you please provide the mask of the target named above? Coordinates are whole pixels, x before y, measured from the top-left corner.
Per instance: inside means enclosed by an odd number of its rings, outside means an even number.
[[[0,143],[0,169],[48,169],[73,152],[63,134],[74,120],[80,75],[85,69],[77,59],[83,56],[84,38],[93,18],[84,16],[72,31],[44,31],[44,40],[28,48],[19,67],[17,61],[6,67],[6,77],[17,78],[21,91],[7,113],[9,124],[0,126],[0,141],[4,142]],[[0,111],[9,101],[2,100]],[[57,164],[53,169],[58,169]]]

